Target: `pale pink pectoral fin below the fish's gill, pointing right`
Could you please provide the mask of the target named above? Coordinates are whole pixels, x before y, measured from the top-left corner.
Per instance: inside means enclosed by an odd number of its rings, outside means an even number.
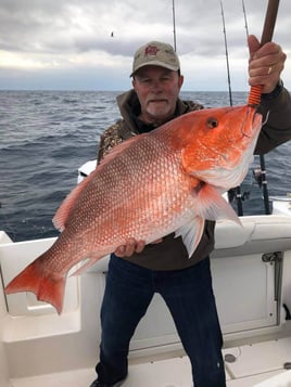
[[[198,193],[197,199],[197,210],[202,218],[214,221],[228,219],[242,225],[238,215],[230,204],[223,197],[218,189],[215,189],[210,184],[204,184]]]

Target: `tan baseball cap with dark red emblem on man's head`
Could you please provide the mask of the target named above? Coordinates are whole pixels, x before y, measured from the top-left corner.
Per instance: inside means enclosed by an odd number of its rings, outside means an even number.
[[[148,65],[161,66],[174,72],[180,68],[179,59],[173,47],[161,41],[150,41],[138,49],[135,53],[130,77],[139,68]]]

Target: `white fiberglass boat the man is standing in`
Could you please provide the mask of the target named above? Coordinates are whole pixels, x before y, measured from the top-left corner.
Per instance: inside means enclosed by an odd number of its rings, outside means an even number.
[[[290,198],[273,199],[273,215],[216,227],[212,271],[228,387],[291,386]],[[0,231],[1,387],[88,387],[96,377],[107,258],[68,279],[61,315],[30,293],[3,292],[53,241],[13,243]],[[129,364],[125,387],[191,386],[189,360],[159,295],[134,336]]]

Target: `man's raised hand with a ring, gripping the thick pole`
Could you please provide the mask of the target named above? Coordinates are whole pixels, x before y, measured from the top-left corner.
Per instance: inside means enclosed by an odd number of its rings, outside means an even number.
[[[260,41],[253,35],[248,38],[249,83],[250,86],[262,85],[263,93],[270,93],[277,86],[281,72],[284,67],[286,54],[280,46],[267,42],[261,47]]]

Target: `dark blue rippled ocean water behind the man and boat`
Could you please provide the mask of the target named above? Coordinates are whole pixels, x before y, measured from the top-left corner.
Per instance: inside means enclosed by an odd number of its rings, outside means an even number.
[[[100,134],[117,118],[118,92],[0,91],[0,230],[16,241],[56,236],[52,217],[76,185],[77,169],[97,156]],[[229,105],[227,92],[182,92],[206,107]],[[246,93],[233,92],[233,105]],[[291,144],[265,157],[268,192],[291,190]],[[258,158],[242,183],[245,215],[264,214],[253,179]],[[233,204],[236,208],[236,204]]]

